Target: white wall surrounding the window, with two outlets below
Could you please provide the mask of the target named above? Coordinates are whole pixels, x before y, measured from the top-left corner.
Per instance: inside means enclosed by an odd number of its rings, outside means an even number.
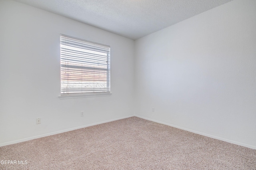
[[[60,34],[111,46],[112,95],[58,98]],[[12,0],[0,0],[0,73],[0,145],[134,115],[133,40]]]

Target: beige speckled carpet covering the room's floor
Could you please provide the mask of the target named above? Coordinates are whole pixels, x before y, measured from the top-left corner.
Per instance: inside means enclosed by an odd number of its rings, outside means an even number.
[[[1,170],[256,170],[254,149],[138,117],[3,146],[0,160],[16,160]]]

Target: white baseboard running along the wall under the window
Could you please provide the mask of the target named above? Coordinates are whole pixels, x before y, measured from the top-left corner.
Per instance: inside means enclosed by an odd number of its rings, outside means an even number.
[[[68,131],[76,130],[76,129],[79,129],[79,128],[85,128],[85,127],[90,127],[90,126],[94,126],[94,125],[99,125],[99,124],[102,124],[102,123],[117,121],[117,120],[120,120],[120,119],[125,119],[125,118],[129,118],[129,117],[134,117],[134,116],[135,115],[130,115],[130,116],[126,116],[126,117],[120,117],[120,118],[117,118],[117,119],[110,119],[108,121],[92,123],[92,124],[84,125],[84,126],[80,126],[80,127],[74,127],[74,128],[69,128],[69,129],[65,129],[65,130],[60,130],[60,131],[57,131],[57,132],[51,132],[51,133],[41,134],[41,135],[38,135],[38,136],[32,136],[32,137],[29,137],[29,138],[24,138],[24,139],[14,140],[14,141],[10,141],[10,142],[5,142],[5,143],[1,143],[0,147],[10,145],[10,144],[16,144],[16,143],[20,143],[20,142],[25,142],[25,141],[32,140],[32,139],[42,138],[42,137],[45,137],[45,136],[51,136],[51,135],[59,134],[59,133],[63,133],[63,132],[68,132]]]

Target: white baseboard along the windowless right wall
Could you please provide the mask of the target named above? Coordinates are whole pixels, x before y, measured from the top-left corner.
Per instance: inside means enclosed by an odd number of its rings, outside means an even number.
[[[142,116],[139,116],[139,115],[135,115],[135,116],[136,116],[136,117],[139,117],[139,118],[142,118],[142,119],[146,119],[146,120],[148,120],[148,121],[153,121],[153,122],[156,122],[156,123],[161,123],[161,124],[164,124],[164,125],[168,125],[168,126],[170,126],[170,127],[175,127],[175,128],[179,128],[179,129],[186,130],[186,131],[189,131],[189,132],[193,132],[193,133],[196,133],[196,134],[200,134],[200,135],[203,135],[203,136],[207,136],[207,137],[210,137],[210,138],[222,140],[222,141],[224,141],[224,142],[229,142],[229,143],[232,143],[232,144],[237,144],[237,145],[240,145],[240,146],[244,146],[244,147],[246,147],[246,148],[256,149],[256,146],[252,146],[252,145],[248,145],[248,144],[236,142],[236,141],[229,140],[229,139],[225,139],[225,138],[220,138],[220,137],[218,137],[218,136],[213,136],[213,135],[210,135],[210,134],[198,132],[198,131],[191,130],[191,129],[188,129],[188,128],[183,128],[183,127],[179,127],[179,126],[172,125],[172,124],[169,124],[169,123],[164,123],[164,122],[161,122],[161,121],[156,121],[156,120],[154,120],[154,119],[149,119],[149,118],[142,117]]]

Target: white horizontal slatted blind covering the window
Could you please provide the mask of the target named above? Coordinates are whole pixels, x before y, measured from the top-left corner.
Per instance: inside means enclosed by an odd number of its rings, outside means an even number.
[[[60,34],[61,95],[110,93],[110,46]]]

